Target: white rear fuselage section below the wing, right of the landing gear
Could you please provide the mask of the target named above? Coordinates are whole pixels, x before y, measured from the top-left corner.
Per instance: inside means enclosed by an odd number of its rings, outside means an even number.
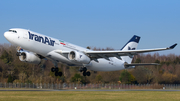
[[[91,61],[87,68],[93,71],[117,71],[124,69],[124,62],[113,58],[110,61],[106,59],[98,59],[99,62]]]

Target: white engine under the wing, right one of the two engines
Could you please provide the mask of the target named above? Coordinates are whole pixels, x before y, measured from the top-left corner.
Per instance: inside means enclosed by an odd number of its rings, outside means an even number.
[[[71,51],[68,54],[68,58],[71,61],[79,62],[82,64],[89,64],[91,61],[91,59],[87,55],[81,52],[77,52],[77,51]]]

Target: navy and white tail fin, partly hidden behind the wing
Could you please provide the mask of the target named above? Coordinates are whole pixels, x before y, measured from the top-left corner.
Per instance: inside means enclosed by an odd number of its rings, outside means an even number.
[[[121,49],[122,51],[126,51],[126,50],[135,50],[138,46],[140,37],[134,35],[125,45],[124,47]],[[133,59],[133,55],[129,54],[129,56],[121,56],[122,60],[127,62],[128,64],[130,64],[132,62]]]

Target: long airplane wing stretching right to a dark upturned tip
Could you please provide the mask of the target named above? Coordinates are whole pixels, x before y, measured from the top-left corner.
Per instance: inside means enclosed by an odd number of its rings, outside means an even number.
[[[137,55],[138,53],[154,52],[173,49],[177,44],[174,44],[167,48],[156,48],[156,49],[144,49],[144,50],[126,50],[126,51],[85,51],[91,59],[105,58],[109,60],[109,57],[130,56]]]

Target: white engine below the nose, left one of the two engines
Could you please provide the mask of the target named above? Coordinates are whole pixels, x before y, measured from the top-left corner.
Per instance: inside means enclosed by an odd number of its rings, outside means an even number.
[[[33,53],[28,53],[28,52],[22,52],[21,55],[19,56],[19,60],[23,62],[33,63],[33,64],[41,63],[41,59],[38,56],[36,56]]]

